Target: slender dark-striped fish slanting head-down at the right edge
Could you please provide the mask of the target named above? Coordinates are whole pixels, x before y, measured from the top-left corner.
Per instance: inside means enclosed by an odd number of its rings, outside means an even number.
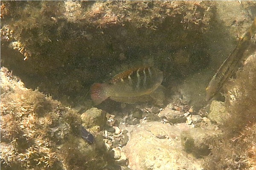
[[[242,37],[233,52],[225,59],[221,64],[216,74],[212,77],[206,88],[206,101],[212,99],[222,89],[227,80],[232,77],[239,69],[242,60],[244,59],[244,52],[250,46],[250,40],[253,34],[256,33],[256,17],[253,20],[252,26],[250,26],[247,33]]]

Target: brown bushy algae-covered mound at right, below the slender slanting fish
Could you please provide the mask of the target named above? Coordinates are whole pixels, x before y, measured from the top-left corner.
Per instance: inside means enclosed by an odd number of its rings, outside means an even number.
[[[220,128],[223,134],[208,143],[208,170],[254,170],[256,168],[256,54],[225,85]],[[214,108],[217,110],[217,108]],[[225,113],[224,113],[225,112]]]

